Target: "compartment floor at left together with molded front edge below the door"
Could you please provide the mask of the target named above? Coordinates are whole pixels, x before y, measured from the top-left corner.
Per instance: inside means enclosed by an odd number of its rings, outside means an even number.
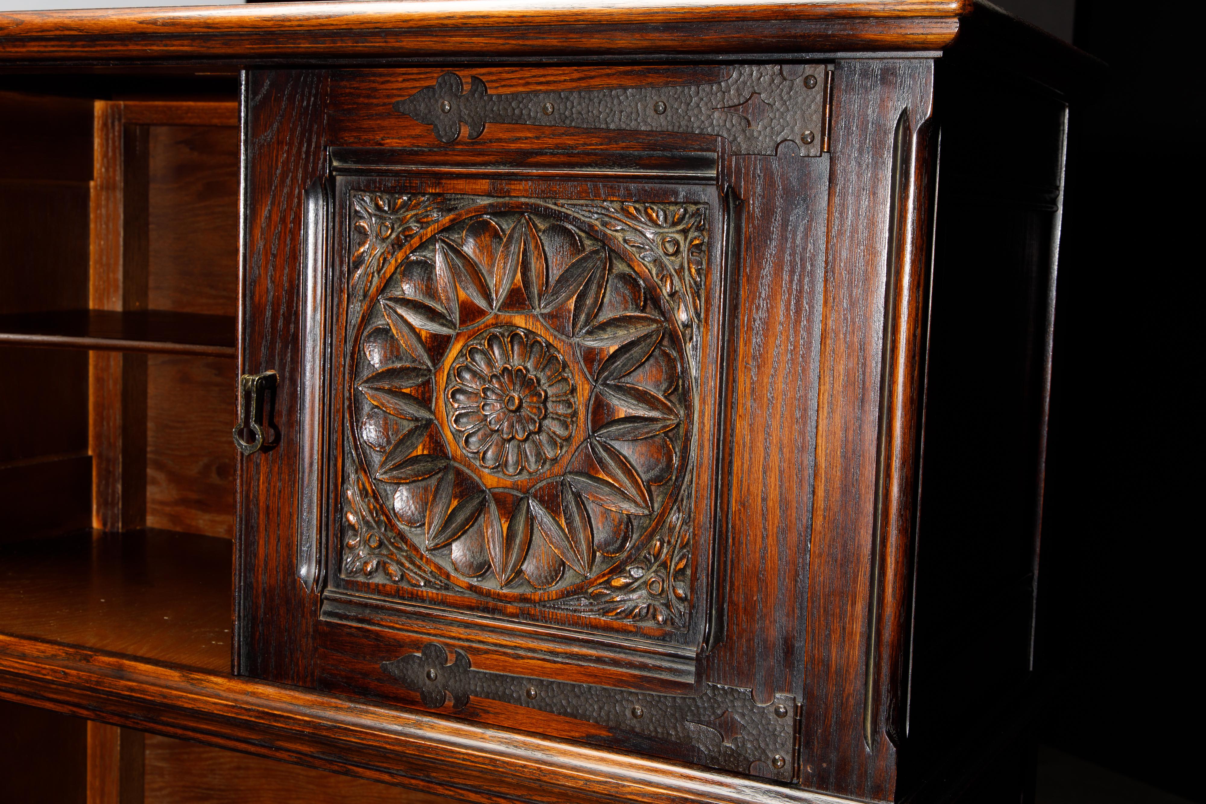
[[[233,676],[230,548],[169,530],[0,546],[0,698],[470,802],[848,802]]]

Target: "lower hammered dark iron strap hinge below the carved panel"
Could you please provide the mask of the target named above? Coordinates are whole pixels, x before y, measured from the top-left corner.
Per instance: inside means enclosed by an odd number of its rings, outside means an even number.
[[[750,689],[718,683],[704,683],[699,694],[674,696],[528,679],[474,670],[468,656],[455,653],[449,664],[447,651],[428,642],[421,653],[382,662],[381,668],[432,709],[450,697],[455,710],[468,706],[470,698],[487,698],[604,726],[632,750],[779,781],[792,779],[795,696],[780,693],[759,704]]]

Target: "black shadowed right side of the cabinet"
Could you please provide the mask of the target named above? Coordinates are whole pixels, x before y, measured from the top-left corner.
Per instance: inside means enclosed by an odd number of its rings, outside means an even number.
[[[954,61],[937,98],[908,722],[919,769],[1018,717],[1032,669],[1066,112],[1037,87]]]

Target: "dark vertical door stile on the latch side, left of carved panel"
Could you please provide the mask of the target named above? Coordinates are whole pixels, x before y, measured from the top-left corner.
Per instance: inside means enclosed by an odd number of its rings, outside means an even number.
[[[323,170],[323,71],[251,71],[244,88],[240,372],[276,371],[274,448],[240,458],[235,670],[312,683],[317,595],[294,573],[303,194]],[[234,448],[232,446],[232,448]]]

